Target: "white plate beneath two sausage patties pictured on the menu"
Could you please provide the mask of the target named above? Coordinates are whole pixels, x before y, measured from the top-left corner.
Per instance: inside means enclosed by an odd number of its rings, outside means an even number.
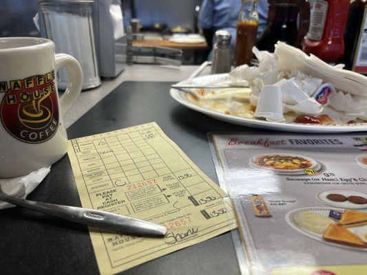
[[[327,190],[327,191],[322,191],[322,192],[317,193],[316,199],[318,199],[322,203],[327,204],[328,206],[335,206],[338,208],[344,208],[344,209],[367,208],[367,203],[357,204],[357,203],[351,203],[350,201],[331,201],[330,199],[326,198],[326,196],[329,194],[339,194],[339,195],[344,195],[345,197],[359,196],[359,197],[367,198],[367,194],[363,192],[358,192],[358,191],[353,191],[353,190]]]

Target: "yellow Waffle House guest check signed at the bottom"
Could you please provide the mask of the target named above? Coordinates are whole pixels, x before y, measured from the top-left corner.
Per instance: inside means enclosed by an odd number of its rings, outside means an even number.
[[[84,208],[167,227],[162,239],[90,228],[101,274],[114,274],[236,227],[229,198],[155,122],[70,140]]]

